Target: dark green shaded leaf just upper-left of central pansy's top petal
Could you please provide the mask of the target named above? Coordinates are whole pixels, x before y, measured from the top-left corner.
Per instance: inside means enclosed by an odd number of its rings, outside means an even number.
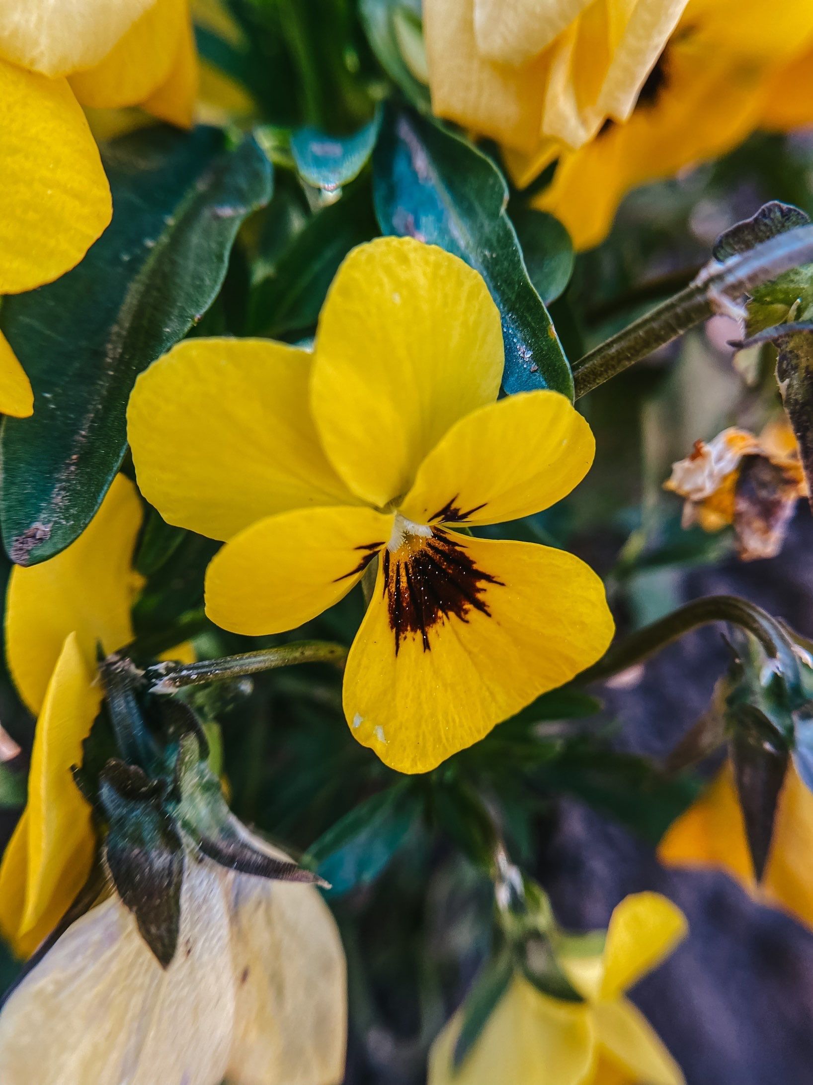
[[[363,179],[308,219],[280,255],[273,273],[255,289],[248,334],[279,337],[310,330],[327,288],[351,248],[376,232]]]

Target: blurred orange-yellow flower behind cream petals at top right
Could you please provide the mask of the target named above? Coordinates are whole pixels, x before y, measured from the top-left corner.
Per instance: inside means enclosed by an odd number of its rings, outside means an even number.
[[[623,196],[736,146],[757,128],[813,122],[813,4],[689,0],[627,123],[562,153],[533,206],[555,215],[577,248],[607,234]],[[556,157],[511,155],[518,184]]]

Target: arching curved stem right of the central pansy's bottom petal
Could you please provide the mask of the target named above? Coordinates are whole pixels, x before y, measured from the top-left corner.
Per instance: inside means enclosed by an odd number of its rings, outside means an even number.
[[[792,648],[770,614],[736,596],[706,596],[694,599],[651,625],[644,626],[614,644],[603,660],[579,675],[580,682],[599,681],[643,663],[686,633],[711,622],[727,622],[750,633],[777,660],[789,676],[798,673]]]

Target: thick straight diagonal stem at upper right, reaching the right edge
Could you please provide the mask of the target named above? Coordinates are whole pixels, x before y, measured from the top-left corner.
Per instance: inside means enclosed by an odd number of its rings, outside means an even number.
[[[576,398],[671,343],[763,282],[813,260],[813,225],[777,234],[746,253],[712,260],[689,285],[590,350],[573,366]]]

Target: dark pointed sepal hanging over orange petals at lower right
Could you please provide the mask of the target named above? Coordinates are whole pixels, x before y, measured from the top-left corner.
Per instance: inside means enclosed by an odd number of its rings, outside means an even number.
[[[779,791],[788,766],[787,746],[756,714],[738,714],[732,727],[734,778],[757,881],[771,851]]]

